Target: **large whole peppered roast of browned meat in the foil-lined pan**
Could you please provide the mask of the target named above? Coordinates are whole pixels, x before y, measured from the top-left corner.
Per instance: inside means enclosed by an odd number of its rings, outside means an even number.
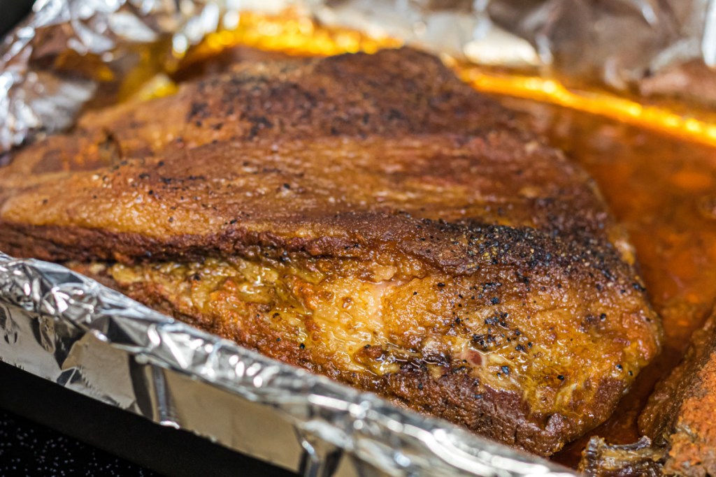
[[[253,65],[0,170],[0,250],[548,455],[659,350],[589,177],[412,50]]]

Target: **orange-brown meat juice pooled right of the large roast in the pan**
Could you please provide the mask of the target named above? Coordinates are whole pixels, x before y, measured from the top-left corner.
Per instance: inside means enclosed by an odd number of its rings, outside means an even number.
[[[503,98],[594,177],[631,238],[664,348],[611,418],[553,457],[576,466],[590,436],[611,443],[639,438],[637,418],[681,358],[716,298],[716,148],[592,114]]]

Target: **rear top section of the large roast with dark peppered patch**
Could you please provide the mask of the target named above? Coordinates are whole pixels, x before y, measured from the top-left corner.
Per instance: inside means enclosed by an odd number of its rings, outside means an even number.
[[[16,162],[42,173],[92,169],[215,141],[472,133],[512,116],[412,49],[248,62],[171,97],[90,112],[74,134],[32,144]]]

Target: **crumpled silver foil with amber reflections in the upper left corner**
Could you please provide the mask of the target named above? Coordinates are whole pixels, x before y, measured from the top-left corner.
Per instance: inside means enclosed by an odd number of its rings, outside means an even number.
[[[239,9],[276,11],[289,1],[38,0],[0,44],[0,152],[40,132],[72,126],[90,99],[121,96],[132,74],[160,69]],[[233,14],[233,16],[231,15]],[[142,78],[135,81],[141,82]]]

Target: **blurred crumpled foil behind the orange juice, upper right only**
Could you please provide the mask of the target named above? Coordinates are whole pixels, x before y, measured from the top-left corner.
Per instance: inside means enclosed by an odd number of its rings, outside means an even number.
[[[716,102],[715,0],[306,1],[327,24],[397,36],[475,64]]]

